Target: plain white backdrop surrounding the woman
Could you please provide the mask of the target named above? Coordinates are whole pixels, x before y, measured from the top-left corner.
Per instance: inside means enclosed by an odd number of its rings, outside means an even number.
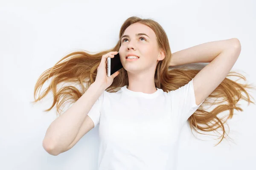
[[[96,170],[98,126],[71,150],[49,155],[42,141],[56,119],[55,108],[44,112],[52,95],[36,105],[30,102],[43,71],[71,50],[112,48],[122,23],[131,16],[160,23],[172,52],[238,38],[241,54],[233,71],[243,71],[247,82],[256,84],[255,8],[254,0],[0,1],[0,169]],[[255,91],[250,94],[256,99]],[[183,127],[178,170],[256,169],[256,106],[239,104],[244,111],[235,111],[228,121],[233,141],[223,140],[213,147],[214,137],[194,132],[203,139],[199,140],[188,124]]]

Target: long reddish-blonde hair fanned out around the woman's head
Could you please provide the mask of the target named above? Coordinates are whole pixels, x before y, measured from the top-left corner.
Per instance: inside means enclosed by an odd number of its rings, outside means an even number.
[[[89,54],[88,51],[83,50],[73,51],[60,59],[52,68],[44,71],[35,84],[35,101],[33,101],[33,103],[43,99],[52,90],[52,106],[45,111],[50,111],[56,105],[57,113],[61,114],[61,108],[64,107],[64,105],[76,102],[95,81],[97,67],[99,66],[102,55],[110,51],[119,51],[121,37],[125,29],[133,23],[142,23],[150,27],[156,34],[158,48],[162,48],[165,52],[165,59],[159,61],[156,66],[154,82],[157,88],[161,88],[165,92],[176,90],[183,85],[186,85],[192,80],[192,78],[195,77],[196,74],[198,74],[200,70],[195,69],[173,68],[170,70],[169,61],[172,57],[172,53],[167,35],[163,28],[159,25],[159,23],[151,19],[129,17],[127,20],[125,20],[119,31],[119,41],[116,43],[114,48],[96,54]],[[246,80],[243,75],[236,72],[230,72],[228,76],[236,76]],[[47,79],[50,78],[52,78],[52,80],[49,86],[40,94],[42,86]],[[60,89],[57,89],[57,85],[60,83],[71,83],[71,85],[66,85]],[[74,86],[75,84],[79,85],[81,90],[76,88]],[[124,85],[128,85],[128,75],[127,71],[122,68],[119,70],[119,75],[114,78],[112,85],[108,87],[106,91],[116,92]],[[218,138],[221,138],[218,142],[219,144],[224,138],[226,138],[225,134],[227,133],[225,131],[224,123],[226,123],[227,119],[232,118],[234,109],[243,111],[236,105],[236,103],[240,99],[246,100],[248,105],[250,102],[252,102],[245,88],[253,88],[253,86],[239,84],[238,82],[225,78],[223,82],[221,82],[221,84],[212,92],[212,94],[207,97],[207,99],[223,98],[223,100],[221,102],[209,102],[206,99],[198,110],[195,111],[195,113],[193,113],[188,119],[191,130],[194,129],[200,133],[199,130],[204,132],[218,132],[217,130],[220,129],[222,130],[222,134]],[[244,92],[246,96],[243,96],[241,92]],[[36,97],[37,94],[39,94],[38,97]],[[227,102],[227,104],[222,104],[223,102]],[[254,102],[252,103],[254,104]],[[204,105],[216,104],[219,105],[210,112],[203,109]],[[226,117],[226,119],[218,117],[219,113],[227,110],[229,111],[229,115]]]

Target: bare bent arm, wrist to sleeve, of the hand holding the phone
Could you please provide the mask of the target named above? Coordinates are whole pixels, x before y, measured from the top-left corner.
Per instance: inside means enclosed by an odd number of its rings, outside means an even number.
[[[49,154],[56,156],[69,150],[94,127],[87,114],[104,91],[101,85],[91,84],[67,111],[51,123],[43,140],[43,147]]]

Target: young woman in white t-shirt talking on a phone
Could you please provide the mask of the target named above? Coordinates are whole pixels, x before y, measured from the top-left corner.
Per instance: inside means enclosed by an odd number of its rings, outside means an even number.
[[[123,68],[111,77],[106,75],[106,59],[119,51]],[[99,124],[99,170],[171,170],[175,169],[177,141],[183,124],[202,131],[223,130],[225,120],[217,115],[240,110],[236,103],[242,85],[227,79],[241,51],[238,39],[219,40],[171,54],[163,28],[154,20],[130,17],[122,25],[119,41],[108,51],[68,54],[45,71],[35,85],[35,96],[47,79],[58,113],[66,101],[74,104],[47,129],[43,146],[58,155],[70,150],[89,130]],[[201,71],[169,66],[210,62]],[[234,73],[234,72],[233,72]],[[238,76],[240,77],[240,76]],[[62,87],[61,82],[78,82]],[[84,83],[86,87],[84,87]],[[207,97],[223,97],[211,112],[198,109]],[[236,99],[238,97],[238,99]],[[220,102],[221,103],[221,102]],[[220,142],[221,142],[220,140]]]

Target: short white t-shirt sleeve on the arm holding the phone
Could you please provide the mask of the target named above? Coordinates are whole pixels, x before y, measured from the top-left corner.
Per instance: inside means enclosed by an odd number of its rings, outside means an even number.
[[[96,102],[93,104],[92,108],[87,114],[90,117],[90,119],[92,119],[94,123],[94,127],[96,127],[100,122],[100,117],[101,117],[100,111],[103,103],[104,93],[105,91],[101,94],[101,96],[99,96],[99,99],[96,100]]]

